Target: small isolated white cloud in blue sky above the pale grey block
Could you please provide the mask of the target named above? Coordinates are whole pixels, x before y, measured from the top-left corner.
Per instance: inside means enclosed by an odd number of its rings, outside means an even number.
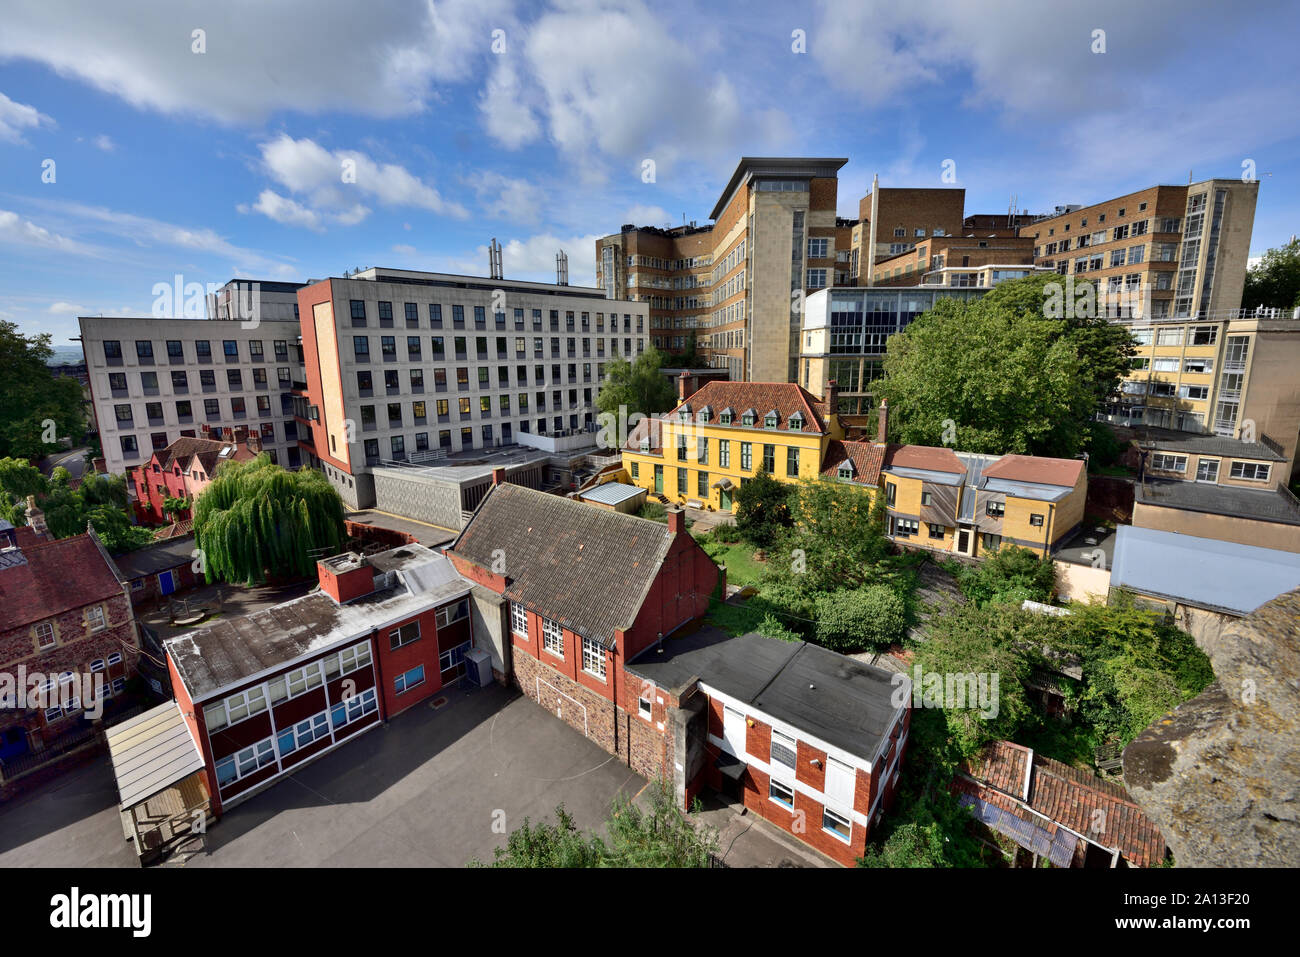
[[[312,139],[281,134],[261,144],[266,173],[290,192],[304,195],[307,203],[263,190],[252,209],[286,225],[320,230],[326,221],[356,225],[369,213],[358,196],[390,207],[413,207],[433,213],[464,218],[468,212],[445,200],[429,183],[404,166],[376,163],[356,150],[329,151]]]

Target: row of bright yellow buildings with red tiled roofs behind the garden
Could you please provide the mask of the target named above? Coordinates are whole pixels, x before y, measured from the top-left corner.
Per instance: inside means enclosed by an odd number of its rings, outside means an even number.
[[[759,471],[779,481],[826,477],[885,497],[900,544],[971,558],[1002,542],[1049,554],[1083,520],[1080,459],[974,455],[888,442],[881,403],[875,442],[845,438],[836,408],[790,382],[710,382],[672,412],[646,419],[623,449],[627,480],[666,505],[731,511]]]

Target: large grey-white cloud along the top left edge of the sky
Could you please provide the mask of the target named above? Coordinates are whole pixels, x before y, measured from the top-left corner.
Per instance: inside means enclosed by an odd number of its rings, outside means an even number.
[[[472,77],[511,0],[8,0],[0,59],[32,60],[169,114],[259,122],[282,111],[406,116]],[[72,8],[72,9],[70,9]],[[203,30],[205,52],[194,52]]]

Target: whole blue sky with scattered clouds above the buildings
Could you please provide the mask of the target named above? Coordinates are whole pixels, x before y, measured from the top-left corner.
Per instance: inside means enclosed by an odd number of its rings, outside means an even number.
[[[0,320],[55,346],[177,276],[486,276],[493,238],[507,278],[554,281],[563,248],[592,285],[597,237],[707,222],[741,156],[849,157],[850,217],[872,174],[967,213],[1253,174],[1252,255],[1300,233],[1295,3],[4,10]]]

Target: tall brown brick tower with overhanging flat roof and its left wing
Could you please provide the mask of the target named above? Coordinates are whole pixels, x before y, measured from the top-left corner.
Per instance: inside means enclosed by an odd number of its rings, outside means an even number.
[[[597,283],[650,303],[664,348],[694,330],[701,354],[732,380],[794,381],[803,294],[848,277],[850,225],[835,215],[845,163],[742,157],[712,226],[624,226],[598,239]]]

